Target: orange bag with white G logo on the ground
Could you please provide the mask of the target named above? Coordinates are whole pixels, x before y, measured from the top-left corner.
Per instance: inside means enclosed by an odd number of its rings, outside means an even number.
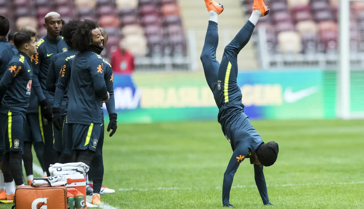
[[[68,209],[66,187],[19,186],[13,209]]]

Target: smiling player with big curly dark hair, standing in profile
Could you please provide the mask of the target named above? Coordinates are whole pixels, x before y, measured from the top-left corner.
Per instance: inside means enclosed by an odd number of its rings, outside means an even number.
[[[100,56],[104,37],[96,22],[84,20],[78,24],[71,40],[78,53],[71,65],[67,140],[72,139],[75,162],[90,166],[100,137],[100,106],[110,98],[104,79],[104,62]]]

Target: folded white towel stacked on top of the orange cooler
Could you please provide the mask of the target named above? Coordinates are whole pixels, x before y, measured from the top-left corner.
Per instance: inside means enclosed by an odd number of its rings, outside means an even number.
[[[86,176],[86,173],[90,167],[88,167],[84,163],[56,163],[49,167],[49,172],[51,176],[55,175],[71,175],[71,174],[83,174]]]

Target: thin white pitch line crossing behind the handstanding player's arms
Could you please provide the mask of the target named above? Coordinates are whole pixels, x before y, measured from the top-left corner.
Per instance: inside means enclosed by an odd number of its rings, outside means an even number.
[[[364,181],[352,181],[352,182],[331,182],[331,183],[306,183],[306,184],[267,184],[267,187],[298,187],[298,186],[309,186],[309,185],[346,185],[346,184],[364,184]],[[248,188],[257,187],[256,185],[236,185],[233,188]],[[180,187],[157,187],[151,189],[138,189],[138,188],[120,188],[119,191],[153,191],[153,190],[193,190],[193,189],[210,189],[210,188],[180,188]],[[221,189],[221,186],[216,187],[216,189]]]

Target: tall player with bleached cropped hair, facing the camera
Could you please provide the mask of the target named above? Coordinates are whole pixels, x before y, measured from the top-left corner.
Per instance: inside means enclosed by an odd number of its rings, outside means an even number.
[[[55,154],[53,149],[53,126],[52,126],[52,107],[54,92],[48,92],[46,88],[47,73],[50,67],[52,57],[56,54],[68,51],[68,46],[60,36],[62,29],[62,19],[57,12],[50,12],[44,17],[44,28],[47,29],[47,35],[41,37],[37,44],[38,55],[35,57],[35,66],[39,71],[38,79],[47,98],[46,105],[41,104],[40,113],[40,130],[44,141],[44,166],[47,176],[50,176],[48,167],[55,163]]]

